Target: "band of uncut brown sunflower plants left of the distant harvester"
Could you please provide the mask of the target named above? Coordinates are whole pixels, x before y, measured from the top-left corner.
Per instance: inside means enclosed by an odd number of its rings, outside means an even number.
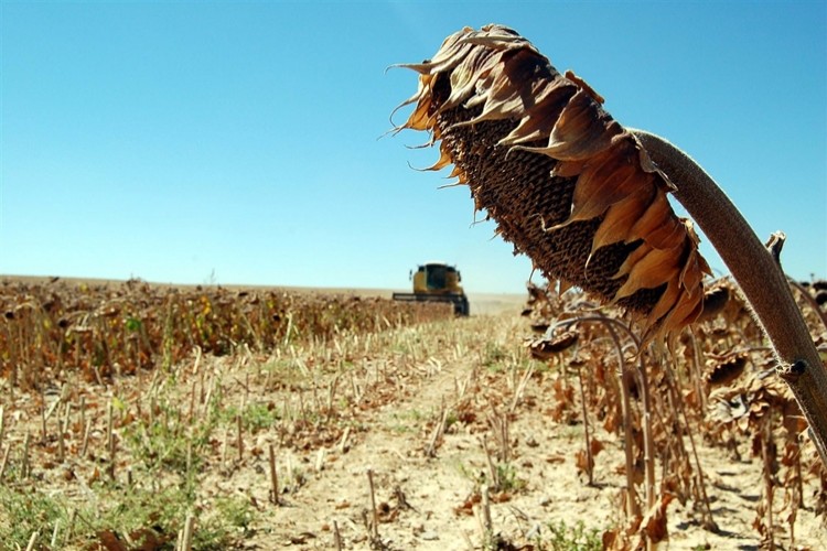
[[[223,356],[370,333],[452,315],[443,304],[283,290],[173,288],[141,280],[0,282],[0,375],[37,389],[63,370],[88,381],[171,368],[193,350]]]

